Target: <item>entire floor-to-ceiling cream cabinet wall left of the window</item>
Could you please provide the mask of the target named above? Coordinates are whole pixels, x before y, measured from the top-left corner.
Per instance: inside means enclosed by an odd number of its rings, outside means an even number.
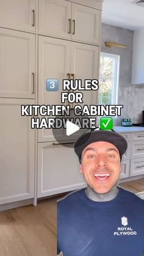
[[[98,79],[102,0],[0,0],[0,203],[85,186],[72,148],[31,129],[21,104],[60,104],[63,79]],[[46,79],[59,91],[46,91]],[[83,92],[96,104],[96,92]],[[68,141],[67,141],[68,142]]]

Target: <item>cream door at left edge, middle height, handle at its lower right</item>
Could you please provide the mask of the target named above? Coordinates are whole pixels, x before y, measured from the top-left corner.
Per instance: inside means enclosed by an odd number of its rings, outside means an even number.
[[[35,98],[35,35],[0,28],[0,97]]]

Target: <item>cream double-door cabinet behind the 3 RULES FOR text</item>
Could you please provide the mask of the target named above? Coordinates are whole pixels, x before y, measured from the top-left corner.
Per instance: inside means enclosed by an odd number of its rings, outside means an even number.
[[[61,104],[62,81],[68,79],[68,73],[71,79],[82,79],[82,82],[98,78],[98,46],[43,36],[38,37],[38,45],[38,104]],[[48,78],[59,79],[59,91],[46,90]],[[97,91],[82,90],[82,93],[84,104],[96,104]],[[46,141],[54,141],[52,130],[38,130],[38,142]]]

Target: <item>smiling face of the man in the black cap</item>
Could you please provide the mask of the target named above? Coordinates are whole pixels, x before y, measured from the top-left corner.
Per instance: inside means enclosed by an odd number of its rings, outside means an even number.
[[[120,170],[120,154],[113,144],[99,141],[84,148],[80,172],[95,192],[109,192],[117,183]]]

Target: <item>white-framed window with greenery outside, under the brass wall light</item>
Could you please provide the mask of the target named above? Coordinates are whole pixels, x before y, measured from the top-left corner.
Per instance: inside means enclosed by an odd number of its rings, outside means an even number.
[[[99,104],[117,104],[120,56],[101,53],[99,70]]]

